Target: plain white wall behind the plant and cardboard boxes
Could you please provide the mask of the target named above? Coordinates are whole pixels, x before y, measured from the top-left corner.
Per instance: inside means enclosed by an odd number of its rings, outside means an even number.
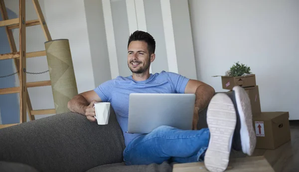
[[[189,0],[197,76],[216,91],[237,61],[256,74],[262,111],[299,112],[299,1]]]

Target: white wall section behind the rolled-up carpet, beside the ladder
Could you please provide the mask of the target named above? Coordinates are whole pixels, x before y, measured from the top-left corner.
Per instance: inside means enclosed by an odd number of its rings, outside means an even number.
[[[44,0],[52,39],[69,39],[78,92],[95,88],[83,0]]]

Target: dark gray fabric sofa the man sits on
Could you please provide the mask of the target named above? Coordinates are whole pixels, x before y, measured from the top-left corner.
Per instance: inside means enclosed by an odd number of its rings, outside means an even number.
[[[199,128],[206,127],[201,112]],[[0,172],[171,172],[171,163],[125,166],[122,130],[111,110],[100,126],[76,113],[0,129]]]

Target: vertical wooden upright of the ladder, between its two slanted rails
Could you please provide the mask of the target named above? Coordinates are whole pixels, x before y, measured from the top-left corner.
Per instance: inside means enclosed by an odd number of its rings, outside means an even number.
[[[27,121],[27,88],[26,88],[26,12],[25,0],[19,0],[19,50],[20,50],[20,123]]]

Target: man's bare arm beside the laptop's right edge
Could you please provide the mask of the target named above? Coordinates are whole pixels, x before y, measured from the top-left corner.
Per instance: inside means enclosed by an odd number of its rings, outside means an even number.
[[[190,79],[185,88],[185,93],[195,94],[194,114],[192,128],[197,129],[198,112],[206,108],[215,94],[215,90],[210,85],[201,81]]]

